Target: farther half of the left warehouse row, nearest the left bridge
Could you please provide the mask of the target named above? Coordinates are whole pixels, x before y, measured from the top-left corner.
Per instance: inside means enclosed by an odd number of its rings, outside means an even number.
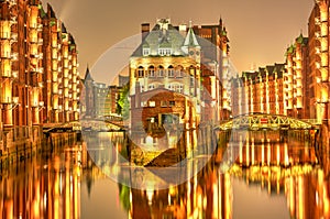
[[[43,24],[43,121],[68,122],[79,118],[77,45],[51,6],[40,10]]]

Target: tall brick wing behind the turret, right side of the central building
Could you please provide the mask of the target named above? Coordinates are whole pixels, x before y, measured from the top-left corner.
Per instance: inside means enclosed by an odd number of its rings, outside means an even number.
[[[229,39],[222,19],[218,24],[195,25],[194,32],[200,39],[202,46],[201,59],[201,77],[202,87],[211,97],[210,101],[205,98],[209,109],[217,107],[219,110],[216,116],[207,117],[208,112],[204,112],[206,119],[216,118],[216,120],[226,120],[231,112],[231,85],[230,85],[230,64],[229,64]]]

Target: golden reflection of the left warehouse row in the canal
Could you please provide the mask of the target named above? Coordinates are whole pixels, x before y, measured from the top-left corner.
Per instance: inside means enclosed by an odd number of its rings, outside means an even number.
[[[80,217],[81,147],[62,135],[52,139],[52,154],[42,152],[2,171],[1,218]]]

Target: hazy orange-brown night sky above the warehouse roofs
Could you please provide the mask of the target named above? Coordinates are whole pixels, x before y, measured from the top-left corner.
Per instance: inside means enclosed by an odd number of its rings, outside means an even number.
[[[230,37],[231,62],[239,72],[284,62],[288,44],[302,31],[314,0],[48,0],[76,39],[79,72],[114,44],[140,33],[143,22],[216,24],[222,17]],[[95,73],[107,75],[110,73]],[[111,73],[113,74],[113,73]],[[97,76],[96,76],[97,77]],[[97,78],[96,78],[97,79]]]

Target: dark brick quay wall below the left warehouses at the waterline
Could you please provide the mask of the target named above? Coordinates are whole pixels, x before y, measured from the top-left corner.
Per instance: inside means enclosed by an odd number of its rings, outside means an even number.
[[[76,140],[76,132],[44,134],[40,125],[3,129],[0,132],[0,168]]]

